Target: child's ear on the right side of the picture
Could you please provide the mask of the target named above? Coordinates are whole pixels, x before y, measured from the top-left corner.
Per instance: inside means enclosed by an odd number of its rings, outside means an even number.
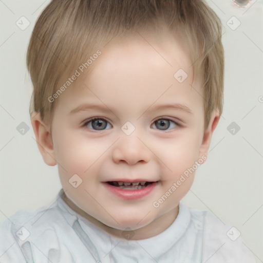
[[[219,119],[220,119],[220,116],[219,116],[218,111],[214,110],[211,114],[209,125],[203,134],[202,144],[200,145],[200,149],[199,149],[199,158],[201,158],[202,156],[206,156],[206,157],[208,156],[208,150],[210,147],[212,135],[219,122]]]

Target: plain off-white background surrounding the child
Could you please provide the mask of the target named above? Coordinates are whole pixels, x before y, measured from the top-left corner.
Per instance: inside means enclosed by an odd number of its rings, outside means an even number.
[[[0,222],[19,209],[34,211],[51,203],[61,189],[57,166],[46,165],[39,153],[28,112],[32,87],[26,51],[36,19],[48,3],[0,1]],[[257,0],[245,9],[231,0],[208,0],[208,4],[225,32],[224,110],[208,160],[198,169],[184,202],[235,226],[257,262],[263,262],[263,2]],[[21,16],[30,22],[25,30],[16,25]],[[228,26],[236,23],[232,16],[241,23],[235,30]],[[240,126],[235,135],[227,129],[233,121]],[[21,122],[30,127],[25,135],[16,130]]]

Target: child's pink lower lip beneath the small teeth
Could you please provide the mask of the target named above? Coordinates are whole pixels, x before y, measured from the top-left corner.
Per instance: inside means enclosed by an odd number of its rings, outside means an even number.
[[[115,194],[116,196],[126,200],[136,200],[151,193],[155,189],[157,182],[153,182],[144,188],[134,190],[123,189],[121,187],[110,185],[106,182],[104,184],[112,194]]]

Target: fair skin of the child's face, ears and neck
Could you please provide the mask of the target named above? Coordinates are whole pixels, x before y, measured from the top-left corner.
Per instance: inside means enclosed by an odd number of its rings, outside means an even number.
[[[45,163],[58,164],[68,205],[112,235],[123,238],[123,231],[132,229],[134,240],[158,235],[176,219],[179,202],[190,190],[195,173],[158,208],[153,203],[187,168],[207,156],[219,121],[218,112],[213,111],[204,129],[201,80],[193,79],[193,62],[180,40],[167,35],[145,39],[137,34],[111,41],[101,49],[92,71],[87,76],[83,73],[57,99],[52,123],[45,124],[38,113],[32,118]],[[180,68],[188,74],[182,83],[174,78]],[[70,114],[85,103],[107,108]],[[152,110],[171,103],[187,106],[192,113]],[[91,117],[106,120],[102,120],[105,129],[96,130],[100,126],[94,121],[85,125]],[[164,120],[166,129],[157,119]],[[127,121],[135,127],[130,135],[121,129]],[[68,182],[74,174],[83,180],[77,188]],[[142,178],[158,184],[141,199],[124,200],[103,183],[116,178]]]

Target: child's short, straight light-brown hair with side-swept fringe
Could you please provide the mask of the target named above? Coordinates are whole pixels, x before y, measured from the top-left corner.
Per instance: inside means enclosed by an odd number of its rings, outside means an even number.
[[[221,21],[202,0],[53,0],[37,20],[27,52],[33,93],[30,115],[48,123],[62,76],[78,68],[114,37],[137,30],[157,32],[164,25],[186,41],[194,76],[203,81],[205,127],[211,112],[222,113],[224,54]]]

